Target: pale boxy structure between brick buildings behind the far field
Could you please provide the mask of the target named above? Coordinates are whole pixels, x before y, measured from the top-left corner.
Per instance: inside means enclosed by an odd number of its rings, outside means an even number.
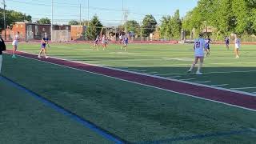
[[[70,30],[53,30],[52,42],[70,42],[71,32]]]

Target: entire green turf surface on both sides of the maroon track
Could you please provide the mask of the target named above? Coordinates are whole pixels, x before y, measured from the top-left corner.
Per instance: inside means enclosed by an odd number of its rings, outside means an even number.
[[[19,50],[38,53],[38,47],[21,44]],[[193,58],[189,45],[131,45],[129,49],[124,52],[118,46],[110,46],[110,50],[97,51],[82,44],[59,44],[52,45],[49,53],[50,56],[58,58],[124,70],[137,69],[146,70],[141,71],[142,73],[166,74],[162,75],[164,77],[195,78],[190,82],[210,81],[204,83],[207,85],[228,84],[223,86],[226,88],[254,87],[254,46],[244,46],[242,58],[239,59],[234,58],[232,50],[212,46],[212,53],[206,58],[204,69],[205,73],[210,74],[200,77],[186,74],[191,63],[190,58]],[[28,58],[12,59],[7,54],[4,55],[2,74],[128,142],[254,143],[256,139],[256,114],[249,110]],[[5,115],[6,119],[1,119],[0,122],[8,122],[10,125],[9,129],[3,127],[5,131],[1,133],[14,133],[15,138],[23,139],[22,143],[36,143],[38,135],[41,134],[42,142],[47,139],[52,143],[108,142],[104,142],[105,139],[100,135],[37,102],[25,92],[14,89],[2,80],[0,85],[6,91],[6,94],[1,95],[1,106],[4,109],[1,110],[4,111],[1,115]],[[244,91],[254,90],[256,88]],[[17,129],[17,122],[21,129]],[[2,126],[5,125],[0,124]],[[34,127],[38,129],[34,130]],[[9,139],[7,135],[3,138],[4,142]]]

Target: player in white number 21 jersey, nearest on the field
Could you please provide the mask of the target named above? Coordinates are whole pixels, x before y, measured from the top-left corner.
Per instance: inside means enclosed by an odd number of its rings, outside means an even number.
[[[188,73],[190,73],[194,69],[194,66],[198,63],[198,60],[200,60],[198,71],[196,72],[196,74],[202,74],[200,70],[202,68],[202,63],[205,56],[204,50],[209,53],[208,49],[205,46],[205,39],[202,38],[202,34],[199,34],[199,38],[195,39],[194,41],[194,62],[190,67],[190,70],[188,70]]]

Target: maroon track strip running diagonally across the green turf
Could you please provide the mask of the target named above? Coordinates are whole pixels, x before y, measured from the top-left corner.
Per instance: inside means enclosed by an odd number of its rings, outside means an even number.
[[[35,54],[27,54],[25,52],[17,52],[17,54],[26,58],[38,59],[37,55]],[[206,98],[234,106],[241,106],[250,110],[256,110],[256,97],[247,94],[238,94],[227,90],[218,90],[206,86],[196,86],[183,82],[175,82],[169,79],[154,78],[143,74],[134,74],[122,70],[113,70],[102,66],[92,66],[86,63],[70,62],[68,60],[58,58],[42,58],[39,60],[62,66],[69,66],[79,70],[86,70],[96,74],[103,74],[114,78],[120,78],[130,82],[138,82],[144,85],[171,90],[182,94],[189,94],[198,98]]]

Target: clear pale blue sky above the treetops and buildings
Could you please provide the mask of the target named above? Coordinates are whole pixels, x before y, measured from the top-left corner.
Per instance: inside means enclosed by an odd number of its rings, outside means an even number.
[[[142,22],[145,14],[152,14],[160,22],[162,16],[173,15],[175,10],[180,10],[185,16],[189,10],[197,5],[198,0],[53,0],[54,23],[66,23],[70,20],[88,19],[95,14],[105,26],[118,26],[123,21],[123,11],[127,10],[128,20]],[[18,10],[30,14],[33,20],[51,18],[51,0],[7,0],[6,9]],[[123,7],[123,8],[122,8]]]

